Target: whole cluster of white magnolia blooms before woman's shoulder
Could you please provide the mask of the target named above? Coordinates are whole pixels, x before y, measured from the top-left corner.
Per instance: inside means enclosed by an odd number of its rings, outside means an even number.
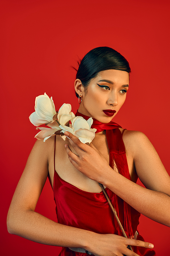
[[[52,97],[49,98],[45,93],[39,95],[35,99],[35,112],[30,115],[30,122],[35,125],[46,124],[50,128],[37,127],[40,132],[35,135],[38,140],[46,141],[51,136],[63,134],[69,131],[74,134],[82,143],[90,143],[95,138],[96,129],[91,129],[93,119],[90,117],[87,121],[81,117],[75,117],[71,112],[71,105],[64,103],[59,111],[55,111],[55,105]],[[72,128],[69,127],[69,121],[72,123]],[[62,133],[63,132],[63,133]]]

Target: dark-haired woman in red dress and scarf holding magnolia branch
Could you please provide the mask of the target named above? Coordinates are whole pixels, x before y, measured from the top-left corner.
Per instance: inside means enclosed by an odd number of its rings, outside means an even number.
[[[138,218],[142,213],[170,226],[170,177],[143,133],[111,122],[125,101],[130,71],[128,61],[109,47],[92,49],[82,59],[75,80],[77,115],[94,118],[96,136],[90,146],[67,131],[66,141],[36,141],[8,212],[10,233],[64,246],[61,255],[155,255],[153,245],[137,236]],[[48,175],[58,223],[34,211]],[[136,184],[138,177],[146,188]]]

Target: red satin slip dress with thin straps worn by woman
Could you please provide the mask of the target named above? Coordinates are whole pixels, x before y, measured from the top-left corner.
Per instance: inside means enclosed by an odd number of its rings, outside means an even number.
[[[113,203],[114,193],[108,188],[105,190]],[[91,193],[73,186],[61,179],[55,171],[55,166],[53,191],[58,223],[101,234],[117,234],[114,214],[102,191],[100,193]],[[119,219],[123,225],[123,200],[119,197],[118,208]],[[131,207],[132,229],[134,233],[139,224],[139,216],[140,213]],[[137,236],[137,239],[144,241],[140,235]],[[137,246],[134,246],[134,252],[141,256],[155,255],[155,251]],[[75,255],[86,256],[87,254],[74,252],[67,247],[63,247],[60,253],[60,256]]]

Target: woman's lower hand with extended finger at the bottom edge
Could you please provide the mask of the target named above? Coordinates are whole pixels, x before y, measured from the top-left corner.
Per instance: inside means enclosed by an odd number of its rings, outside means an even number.
[[[128,245],[153,248],[153,244],[140,240],[129,239],[116,234],[96,234],[86,249],[95,256],[138,256],[127,248]]]

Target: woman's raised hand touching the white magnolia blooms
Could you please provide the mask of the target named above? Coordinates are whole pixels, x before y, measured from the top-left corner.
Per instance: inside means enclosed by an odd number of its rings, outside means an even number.
[[[107,176],[109,178],[109,173],[111,171],[113,172],[113,169],[108,165],[106,159],[97,150],[97,148],[92,145],[92,143],[90,143],[90,146],[83,144],[70,132],[65,132],[65,135],[70,139],[71,146],[78,154],[74,154],[70,150],[68,144],[65,145],[68,158],[77,170],[82,172],[89,179],[95,180],[99,183],[102,183],[103,180],[106,180]]]

